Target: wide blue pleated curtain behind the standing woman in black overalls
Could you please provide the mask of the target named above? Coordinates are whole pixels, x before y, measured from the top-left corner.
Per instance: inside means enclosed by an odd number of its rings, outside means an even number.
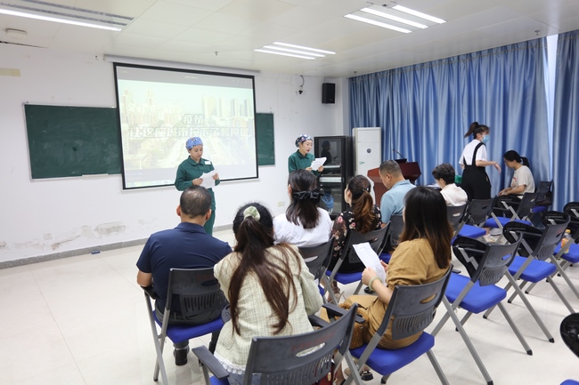
[[[434,182],[436,164],[453,164],[472,140],[463,138],[477,121],[491,128],[486,171],[493,194],[512,171],[502,155],[515,149],[529,158],[534,179],[550,180],[546,39],[511,44],[404,68],[350,78],[351,127],[382,128],[382,158],[418,162],[417,184]]]

